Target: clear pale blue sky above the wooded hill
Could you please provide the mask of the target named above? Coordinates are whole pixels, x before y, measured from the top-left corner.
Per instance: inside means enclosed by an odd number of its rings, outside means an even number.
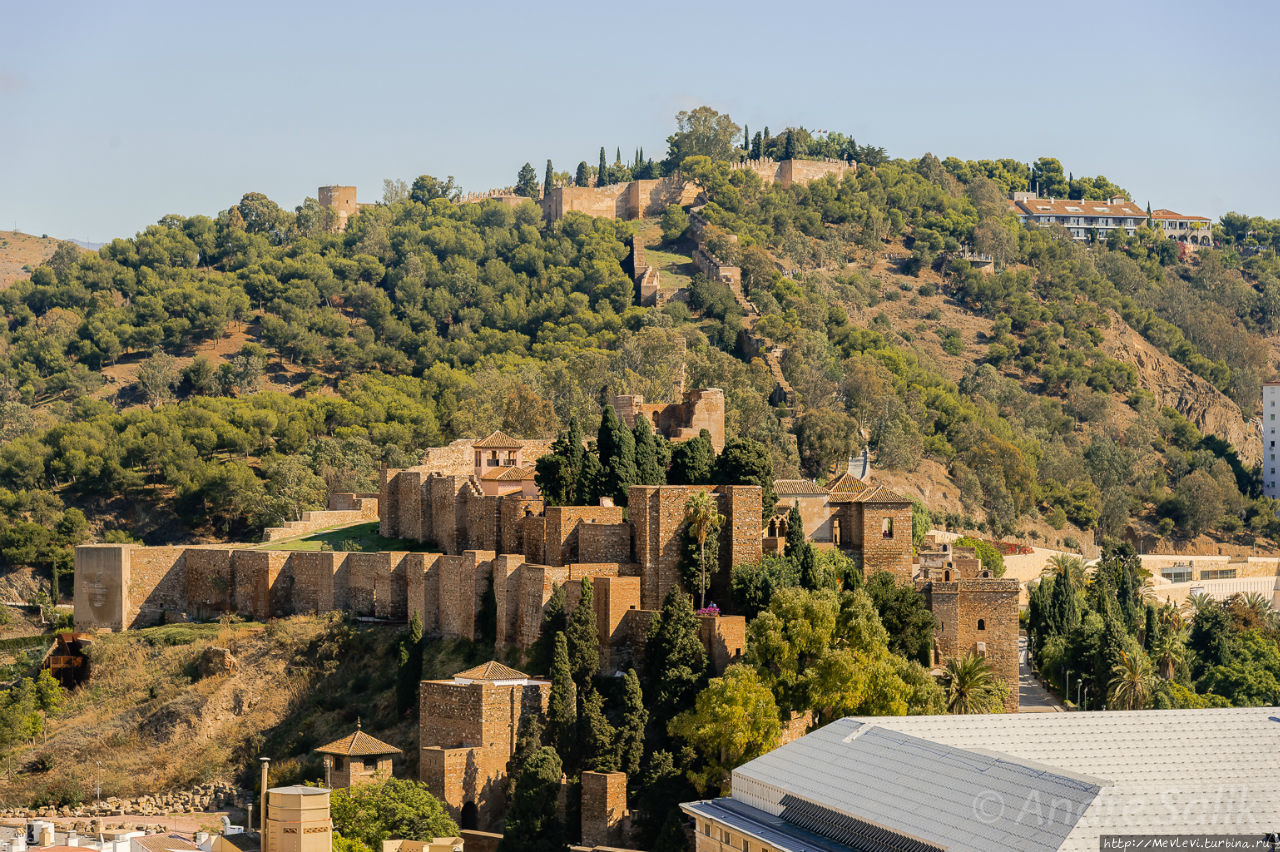
[[[506,185],[602,145],[660,155],[699,104],[1280,217],[1270,3],[0,0],[0,228],[36,234],[422,173]]]

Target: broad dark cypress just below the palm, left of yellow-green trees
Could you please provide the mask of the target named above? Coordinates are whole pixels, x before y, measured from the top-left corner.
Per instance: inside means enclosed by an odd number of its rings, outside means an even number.
[[[707,683],[707,649],[689,595],[678,586],[667,592],[649,627],[644,660],[645,697],[657,718],[672,719],[694,706]]]

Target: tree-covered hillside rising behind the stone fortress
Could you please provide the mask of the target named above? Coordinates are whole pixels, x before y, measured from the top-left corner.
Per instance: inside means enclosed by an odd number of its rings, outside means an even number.
[[[859,169],[782,189],[731,169],[756,155]],[[88,539],[252,536],[425,446],[590,429],[614,393],[669,398],[682,368],[686,386],[726,390],[728,432],[763,445],[772,475],[823,478],[867,444],[886,476],[932,482],[951,526],[1242,546],[1280,533],[1258,448],[1201,431],[1115,345],[1133,334],[1219,409],[1256,416],[1280,224],[1225,216],[1219,248],[1190,262],[1146,228],[1080,244],[1019,225],[1005,197],[1123,192],[1103,177],[1048,157],[891,159],[705,107],[678,116],[666,159],[600,162],[572,179],[678,169],[699,184],[705,238],[741,266],[795,411],[768,404],[727,287],[695,276],[687,298],[635,304],[627,242],[643,223],[547,225],[534,203],[457,203],[452,179],[422,175],[388,182],[335,233],[314,200],[287,211],[247,193],[58,252],[0,293],[0,556],[47,572]],[[662,223],[675,252],[684,223]]]

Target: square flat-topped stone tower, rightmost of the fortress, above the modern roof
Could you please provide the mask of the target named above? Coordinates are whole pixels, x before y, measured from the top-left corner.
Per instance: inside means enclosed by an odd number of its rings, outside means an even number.
[[[1006,713],[1018,713],[1018,581],[977,578],[929,583],[928,601],[940,622],[937,663],[975,651],[1005,686]]]

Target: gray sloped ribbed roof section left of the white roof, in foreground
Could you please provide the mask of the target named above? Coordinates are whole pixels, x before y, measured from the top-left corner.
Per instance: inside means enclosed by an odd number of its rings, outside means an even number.
[[[1070,834],[1098,784],[1028,766],[1005,755],[977,753],[874,724],[842,719],[740,766],[783,793],[783,820],[823,830],[842,817],[873,823],[954,852],[1050,852]],[[801,803],[831,812],[804,814]],[[1019,820],[1039,809],[1042,820]],[[827,832],[823,830],[826,834]]]

